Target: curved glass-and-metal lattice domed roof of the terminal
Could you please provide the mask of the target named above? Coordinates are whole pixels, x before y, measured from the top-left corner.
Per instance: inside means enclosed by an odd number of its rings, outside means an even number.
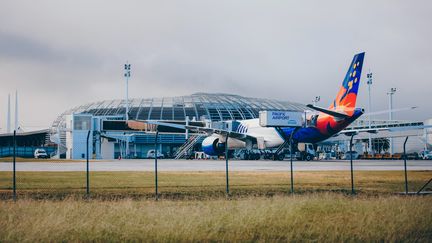
[[[249,98],[223,93],[195,93],[189,96],[131,99],[129,118],[135,120],[191,120],[223,121],[257,118],[260,110],[301,110],[299,103],[273,99]],[[77,106],[62,113],[51,129],[64,127],[64,116],[88,113],[94,116],[124,116],[125,100],[105,100]]]

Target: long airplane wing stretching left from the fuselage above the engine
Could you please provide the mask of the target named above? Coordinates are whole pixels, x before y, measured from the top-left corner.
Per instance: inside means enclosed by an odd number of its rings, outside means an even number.
[[[220,135],[229,136],[230,138],[235,138],[235,139],[238,139],[241,141],[246,141],[246,140],[253,141],[253,142],[257,141],[257,138],[254,136],[250,136],[250,135],[247,135],[244,133],[231,132],[231,131],[227,131],[227,130],[223,130],[223,129],[190,126],[190,125],[174,124],[174,123],[159,122],[159,121],[129,121],[128,122],[128,126],[134,130],[144,130],[146,128],[146,126],[148,126],[148,125],[172,127],[172,128],[189,130],[189,131],[198,132],[198,133],[207,133],[208,135],[220,134]]]

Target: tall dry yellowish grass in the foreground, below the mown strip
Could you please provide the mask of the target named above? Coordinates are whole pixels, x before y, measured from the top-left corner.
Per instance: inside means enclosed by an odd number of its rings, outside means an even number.
[[[0,241],[432,240],[431,197],[0,202]]]

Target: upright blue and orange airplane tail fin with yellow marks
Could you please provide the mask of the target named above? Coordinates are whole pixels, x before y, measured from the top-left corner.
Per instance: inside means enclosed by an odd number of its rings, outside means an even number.
[[[362,52],[354,56],[343,80],[342,87],[329,109],[346,113],[354,111],[364,55],[365,53]]]

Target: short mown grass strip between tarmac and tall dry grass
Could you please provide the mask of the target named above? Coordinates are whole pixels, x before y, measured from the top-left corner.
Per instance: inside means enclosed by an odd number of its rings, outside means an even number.
[[[409,172],[410,190],[418,190],[432,177],[430,171]],[[84,172],[17,172],[20,198],[63,199],[82,197],[85,193]],[[344,171],[295,172],[296,193],[341,192],[351,190],[350,174]],[[90,192],[93,198],[151,198],[154,194],[151,172],[91,172]],[[11,198],[12,173],[0,172],[0,196]],[[359,194],[394,194],[404,190],[403,172],[359,171],[355,173]],[[432,190],[432,187],[427,188]],[[233,197],[287,195],[290,192],[288,172],[232,172],[230,191]],[[223,172],[162,172],[159,192],[166,199],[215,199],[225,197]]]

